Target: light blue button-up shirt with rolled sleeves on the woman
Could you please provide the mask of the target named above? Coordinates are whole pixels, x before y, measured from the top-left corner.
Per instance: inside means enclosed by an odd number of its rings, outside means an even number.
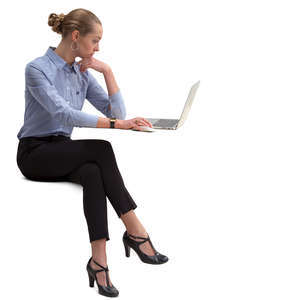
[[[70,66],[49,47],[25,67],[24,124],[17,137],[66,135],[73,127],[97,127],[99,116],[81,111],[87,99],[108,118],[125,119],[121,91],[108,96],[95,77],[74,62]]]

